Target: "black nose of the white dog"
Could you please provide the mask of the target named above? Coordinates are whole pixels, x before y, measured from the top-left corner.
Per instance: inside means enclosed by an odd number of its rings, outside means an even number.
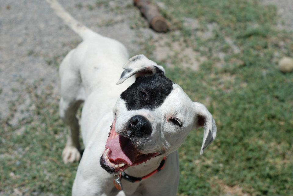
[[[152,127],[150,122],[143,116],[133,116],[129,121],[129,129],[131,135],[142,137],[144,135],[150,135],[152,133]]]

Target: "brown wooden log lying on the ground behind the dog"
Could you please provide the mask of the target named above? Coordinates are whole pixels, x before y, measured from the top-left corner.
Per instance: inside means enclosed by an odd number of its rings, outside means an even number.
[[[161,15],[157,5],[152,4],[148,0],[133,0],[143,16],[147,19],[150,26],[157,32],[167,32],[169,24],[167,20]]]

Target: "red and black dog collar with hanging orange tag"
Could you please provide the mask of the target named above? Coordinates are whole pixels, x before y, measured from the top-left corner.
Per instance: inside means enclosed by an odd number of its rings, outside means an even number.
[[[118,175],[118,178],[116,180],[113,181],[114,186],[121,191],[122,190],[122,186],[121,186],[121,179],[125,179],[129,182],[139,182],[141,180],[147,179],[148,177],[154,175],[155,173],[161,171],[164,167],[165,167],[165,160],[167,159],[167,157],[164,157],[163,160],[161,161],[159,167],[157,169],[155,169],[154,171],[152,171],[151,173],[143,176],[143,177],[134,177],[134,176],[129,176],[127,175],[125,172],[121,172]]]

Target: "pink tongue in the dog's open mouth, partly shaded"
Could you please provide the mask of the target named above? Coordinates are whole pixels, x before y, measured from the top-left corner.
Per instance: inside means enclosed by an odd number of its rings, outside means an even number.
[[[136,156],[140,154],[132,145],[131,141],[121,135],[107,141],[105,147],[110,148],[107,155],[110,159],[114,162],[126,163],[127,165],[132,165]]]

